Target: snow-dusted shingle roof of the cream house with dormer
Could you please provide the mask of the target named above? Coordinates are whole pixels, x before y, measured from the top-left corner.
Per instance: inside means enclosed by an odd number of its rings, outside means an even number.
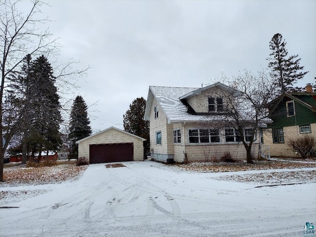
[[[145,120],[150,119],[151,108],[153,106],[154,98],[156,98],[161,110],[165,114],[168,123],[176,122],[210,122],[227,120],[225,115],[193,115],[188,112],[187,106],[181,101],[194,95],[197,95],[205,89],[215,86],[236,92],[231,87],[220,82],[206,86],[203,88],[192,87],[165,87],[165,86],[150,86],[147,97],[147,104],[145,110]],[[233,121],[234,119],[232,119]]]

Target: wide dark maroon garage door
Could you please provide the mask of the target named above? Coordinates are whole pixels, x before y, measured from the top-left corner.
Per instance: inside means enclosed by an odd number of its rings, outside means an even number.
[[[90,164],[133,160],[133,143],[90,145]]]

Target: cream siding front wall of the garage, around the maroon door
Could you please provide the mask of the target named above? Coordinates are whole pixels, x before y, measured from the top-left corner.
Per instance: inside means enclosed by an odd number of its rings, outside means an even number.
[[[93,144],[114,144],[114,143],[133,143],[134,160],[144,160],[143,141],[137,137],[131,136],[114,128],[96,134],[79,143],[78,156],[90,158],[90,145]]]

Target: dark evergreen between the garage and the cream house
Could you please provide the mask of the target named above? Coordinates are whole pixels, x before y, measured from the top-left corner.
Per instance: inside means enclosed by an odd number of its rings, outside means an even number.
[[[126,132],[145,138],[144,148],[150,149],[149,121],[145,121],[146,100],[143,97],[133,100],[129,110],[123,115],[123,126]]]

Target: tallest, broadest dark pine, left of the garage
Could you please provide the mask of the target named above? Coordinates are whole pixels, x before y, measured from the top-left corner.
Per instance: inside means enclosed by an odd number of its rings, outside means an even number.
[[[30,101],[33,113],[32,142],[36,144],[39,153],[43,149],[56,151],[61,144],[61,105],[55,86],[56,79],[47,58],[41,55],[32,62],[29,77],[33,86]]]

